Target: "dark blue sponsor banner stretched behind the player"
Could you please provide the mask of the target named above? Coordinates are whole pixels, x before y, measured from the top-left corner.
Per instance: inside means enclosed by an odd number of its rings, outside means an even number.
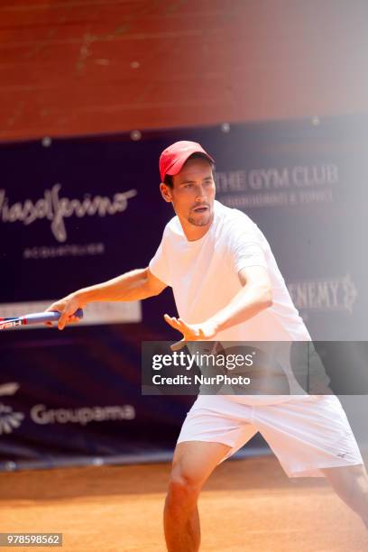
[[[0,146],[0,316],[147,266],[172,216],[158,159],[193,140],[217,198],[271,244],[314,339],[367,339],[367,116]],[[170,290],[87,306],[77,327],[0,333],[0,467],[172,450],[193,397],[141,394],[141,344],[175,340]]]

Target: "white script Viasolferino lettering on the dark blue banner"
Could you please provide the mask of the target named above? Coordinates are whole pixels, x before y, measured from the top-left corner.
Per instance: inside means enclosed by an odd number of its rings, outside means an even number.
[[[9,205],[5,189],[0,189],[0,219],[4,223],[23,222],[32,225],[36,220],[46,218],[51,221],[51,232],[58,242],[67,240],[65,218],[77,216],[106,216],[122,213],[128,207],[128,199],[137,195],[136,189],[117,192],[112,199],[104,196],[85,194],[83,199],[60,198],[61,186],[55,184],[51,189],[45,189],[43,198],[36,201],[25,199],[22,202]]]

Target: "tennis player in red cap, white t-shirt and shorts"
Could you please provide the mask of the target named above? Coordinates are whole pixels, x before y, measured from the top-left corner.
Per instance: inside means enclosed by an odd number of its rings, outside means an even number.
[[[213,158],[193,142],[160,158],[161,195],[174,216],[149,266],[54,303],[62,329],[93,301],[132,301],[173,290],[184,341],[310,340],[261,230],[215,200]],[[325,476],[368,528],[368,479],[334,395],[199,395],[181,428],[164,510],[169,552],[195,552],[198,495],[216,465],[260,431],[289,477]]]

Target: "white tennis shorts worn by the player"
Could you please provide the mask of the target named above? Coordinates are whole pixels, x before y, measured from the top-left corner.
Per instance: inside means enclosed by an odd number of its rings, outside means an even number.
[[[258,431],[289,477],[323,477],[320,468],[363,464],[353,431],[334,395],[296,397],[251,406],[219,395],[199,395],[178,443],[210,441],[231,446],[223,460]]]

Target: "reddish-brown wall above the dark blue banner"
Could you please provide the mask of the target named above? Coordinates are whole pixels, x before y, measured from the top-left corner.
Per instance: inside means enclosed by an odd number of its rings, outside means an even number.
[[[5,0],[0,139],[368,110],[365,0]]]

